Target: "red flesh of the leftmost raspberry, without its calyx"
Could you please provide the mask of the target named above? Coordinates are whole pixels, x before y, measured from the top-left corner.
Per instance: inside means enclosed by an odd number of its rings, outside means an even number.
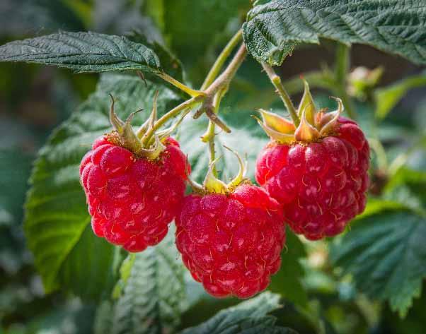
[[[80,165],[94,234],[127,251],[158,244],[178,212],[189,168],[173,138],[154,161],[100,137]],[[189,173],[189,171],[188,171]]]

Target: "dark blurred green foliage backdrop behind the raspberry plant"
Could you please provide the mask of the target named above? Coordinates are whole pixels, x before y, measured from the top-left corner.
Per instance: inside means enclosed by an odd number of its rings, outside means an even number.
[[[199,4],[192,6],[195,2]],[[244,0],[1,0],[0,43],[57,30],[92,30],[115,35],[139,30],[166,44],[183,62],[186,80],[197,87],[221,47],[243,22],[249,7]],[[333,62],[333,44],[324,42],[321,47],[298,48],[279,71],[287,79],[333,66]],[[351,68],[356,66],[383,66],[379,86],[422,73],[422,68],[408,61],[362,46],[352,48]],[[425,78],[420,86],[426,84]],[[0,64],[0,333],[92,332],[96,305],[84,304],[62,292],[44,294],[32,256],[25,247],[22,220],[28,177],[39,148],[52,129],[95,90],[97,80],[97,74],[77,75],[46,66]],[[329,103],[330,93],[313,92],[318,101]],[[299,96],[296,93],[294,100]],[[355,102],[367,134],[379,136],[388,157],[413,148],[408,165],[425,170],[425,143],[413,146],[425,141],[425,88],[409,90],[379,127],[370,97],[367,92],[363,100]],[[247,110],[247,116],[258,107],[282,109],[260,66],[250,57],[238,73],[226,104],[238,104]],[[386,178],[378,167],[374,160],[373,189],[380,193]],[[326,256],[321,244],[309,251],[309,261]],[[362,298],[355,301],[354,288],[347,282],[330,281],[320,270],[318,273],[313,270],[308,276],[306,287],[321,301],[319,312],[330,324],[328,333],[426,333],[425,294],[415,300],[408,315],[401,319],[386,304],[379,313],[376,304]],[[226,303],[229,302],[200,308],[199,320],[212,316]],[[378,314],[381,316],[376,318]],[[280,323],[299,333],[313,333],[313,328],[292,304],[277,316]]]

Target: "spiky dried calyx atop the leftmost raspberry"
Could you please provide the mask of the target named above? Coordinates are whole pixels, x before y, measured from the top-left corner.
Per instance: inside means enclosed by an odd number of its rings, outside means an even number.
[[[142,126],[139,127],[137,132],[134,132],[132,127],[132,119],[134,114],[137,112],[132,112],[127,117],[126,121],[122,121],[117,114],[115,113],[115,101],[113,96],[111,96],[111,107],[110,107],[110,123],[113,125],[114,131],[108,133],[108,141],[115,143],[115,145],[120,145],[123,148],[131,151],[137,157],[146,157],[149,160],[156,160],[161,152],[166,149],[166,146],[163,145],[163,142],[166,141],[166,138],[176,129],[176,127],[183,120],[183,117],[188,114],[189,110],[184,112],[182,117],[170,126],[168,129],[163,129],[161,131],[156,131],[152,134],[150,129],[153,128],[156,119],[157,119],[157,97],[158,92],[154,96],[154,105],[152,107],[151,114],[149,118],[145,121]],[[150,133],[152,135],[150,135]]]

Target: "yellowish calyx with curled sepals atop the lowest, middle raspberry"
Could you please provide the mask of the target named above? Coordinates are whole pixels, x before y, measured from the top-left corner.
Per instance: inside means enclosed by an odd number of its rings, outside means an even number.
[[[202,185],[197,184],[197,182],[192,181],[188,178],[193,191],[201,194],[222,193],[226,195],[228,193],[232,193],[240,184],[250,182],[248,179],[246,179],[247,162],[243,161],[241,156],[238,155],[235,150],[232,150],[231,148],[228,148],[226,146],[224,146],[224,148],[231,151],[231,153],[234,153],[234,155],[238,159],[239,170],[236,177],[229,181],[228,184],[217,178],[216,173],[214,172],[214,166],[216,165],[217,161],[221,159],[221,157],[218,157],[217,159],[210,162],[209,170]]]

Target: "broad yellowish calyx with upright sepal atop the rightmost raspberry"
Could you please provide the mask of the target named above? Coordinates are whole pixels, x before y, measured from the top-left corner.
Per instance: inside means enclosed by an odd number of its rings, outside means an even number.
[[[317,110],[306,80],[304,80],[304,86],[304,95],[297,109],[299,126],[295,126],[294,122],[277,114],[259,110],[262,119],[258,117],[255,119],[272,140],[283,144],[309,143],[319,141],[335,131],[336,123],[343,111],[342,100],[333,97],[338,102],[338,110],[335,112],[326,112],[326,109]]]

